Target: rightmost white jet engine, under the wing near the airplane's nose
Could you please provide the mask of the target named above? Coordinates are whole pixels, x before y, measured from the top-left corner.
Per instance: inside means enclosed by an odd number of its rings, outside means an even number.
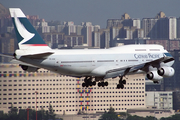
[[[171,77],[174,75],[174,72],[172,67],[161,67],[158,69],[158,74],[163,77]]]

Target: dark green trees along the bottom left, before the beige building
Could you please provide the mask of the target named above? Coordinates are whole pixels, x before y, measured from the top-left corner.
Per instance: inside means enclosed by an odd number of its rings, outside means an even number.
[[[13,105],[11,105],[10,111],[8,113],[0,112],[0,120],[27,120],[27,109],[20,109],[18,111],[17,108],[14,108]],[[56,118],[56,115],[54,114],[52,105],[49,104],[49,110],[41,109],[37,111],[37,119],[38,120],[63,120],[62,118]],[[36,111],[29,109],[29,120],[36,120]]]

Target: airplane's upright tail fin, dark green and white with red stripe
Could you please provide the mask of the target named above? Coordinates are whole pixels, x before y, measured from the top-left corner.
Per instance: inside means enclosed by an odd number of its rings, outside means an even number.
[[[50,49],[37,33],[20,8],[9,8],[19,49]]]

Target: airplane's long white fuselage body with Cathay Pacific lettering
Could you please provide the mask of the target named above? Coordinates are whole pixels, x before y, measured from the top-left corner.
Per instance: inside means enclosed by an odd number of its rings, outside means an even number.
[[[71,49],[52,52],[54,54],[45,59],[25,58],[22,61],[65,75],[105,76],[109,70],[147,63],[168,53],[159,45],[126,45],[110,49]],[[173,62],[169,62],[167,66],[172,64]]]

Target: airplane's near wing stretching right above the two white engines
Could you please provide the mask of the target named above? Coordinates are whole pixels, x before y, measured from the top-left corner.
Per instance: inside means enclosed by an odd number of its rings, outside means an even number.
[[[137,72],[138,70],[148,72],[149,66],[157,67],[160,65],[161,62],[167,63],[167,62],[171,62],[173,60],[174,60],[174,58],[172,58],[172,57],[162,57],[157,60],[138,64],[138,65],[124,66],[124,67],[120,67],[120,68],[111,69],[106,72],[106,75],[104,78],[124,76],[129,73]]]

